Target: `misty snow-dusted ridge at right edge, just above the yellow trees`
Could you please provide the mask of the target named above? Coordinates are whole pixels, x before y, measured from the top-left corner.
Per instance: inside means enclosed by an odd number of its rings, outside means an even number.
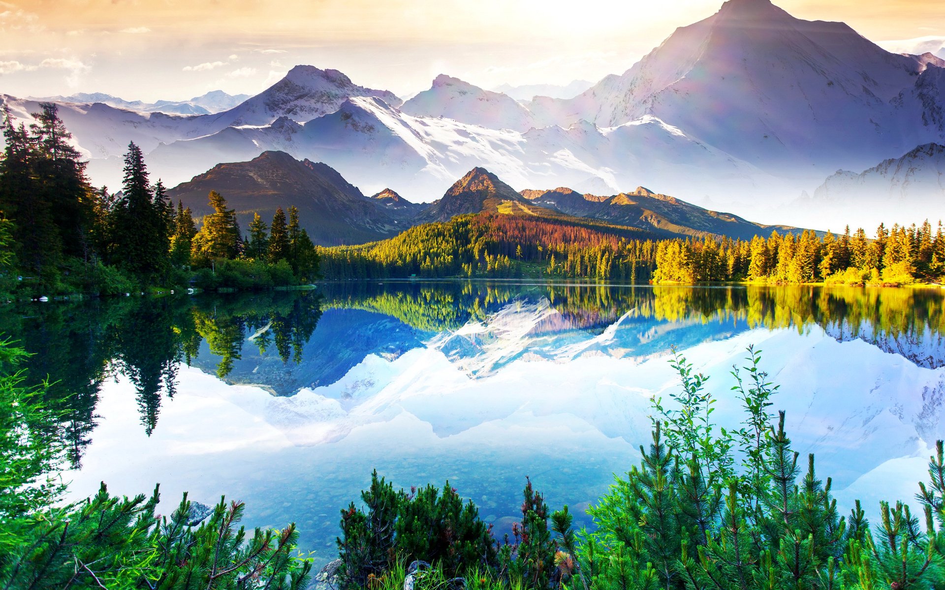
[[[838,170],[817,187],[812,204],[851,211],[865,228],[945,219],[945,145],[919,145],[861,173]]]

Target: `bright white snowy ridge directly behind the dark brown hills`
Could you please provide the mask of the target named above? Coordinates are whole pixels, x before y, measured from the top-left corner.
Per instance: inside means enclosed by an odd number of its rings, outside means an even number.
[[[228,127],[168,143],[148,162],[165,181],[180,181],[220,161],[251,159],[261,149],[324,161],[366,192],[404,187],[422,201],[438,198],[476,166],[519,189],[567,185],[615,194],[646,183],[669,194],[689,194],[696,202],[713,184],[726,187],[714,194],[724,202],[728,194],[775,182],[655,117],[613,128],[581,122],[519,132],[409,115],[377,97],[353,97],[304,125],[281,118],[268,126]]]

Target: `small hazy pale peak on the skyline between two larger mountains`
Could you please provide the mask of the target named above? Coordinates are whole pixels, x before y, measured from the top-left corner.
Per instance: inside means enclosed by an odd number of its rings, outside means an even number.
[[[401,110],[409,115],[447,117],[490,129],[526,131],[535,125],[531,113],[511,96],[442,74],[433,80],[430,90],[406,101]]]

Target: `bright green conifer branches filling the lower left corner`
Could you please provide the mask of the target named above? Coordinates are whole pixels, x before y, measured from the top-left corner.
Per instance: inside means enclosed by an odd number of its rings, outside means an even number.
[[[24,386],[25,352],[0,342],[0,587],[247,589],[306,587],[295,525],[239,527],[244,506],[221,498],[199,526],[186,495],[170,517],[155,514],[158,489],[98,494],[62,505],[53,472],[66,458],[62,413],[43,403],[49,385]]]

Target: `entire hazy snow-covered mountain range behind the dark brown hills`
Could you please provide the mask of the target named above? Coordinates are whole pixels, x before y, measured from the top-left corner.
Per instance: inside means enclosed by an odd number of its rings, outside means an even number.
[[[34,100],[3,102],[27,121],[38,110]],[[945,144],[945,60],[887,51],[848,25],[800,20],[768,0],[729,0],[572,97],[519,102],[444,75],[403,102],[336,70],[297,66],[213,114],[102,102],[63,102],[60,112],[94,182],[112,187],[134,141],[169,185],[277,150],[325,162],[367,194],[392,188],[420,201],[483,167],[516,190],[646,186],[765,221],[870,227],[914,220],[899,201],[833,211],[798,196],[837,170]],[[902,198],[945,217],[945,194],[932,186],[912,183]]]

